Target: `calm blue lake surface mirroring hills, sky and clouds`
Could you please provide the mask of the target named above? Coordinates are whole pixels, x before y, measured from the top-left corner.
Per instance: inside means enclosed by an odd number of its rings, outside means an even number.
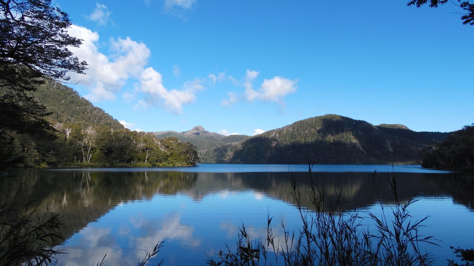
[[[377,174],[373,176],[374,170]],[[440,239],[426,246],[437,265],[455,259],[449,246],[474,248],[474,179],[472,173],[419,166],[315,165],[312,175],[326,191],[342,190],[344,208],[381,212],[394,197],[386,181],[397,180],[399,197],[414,220],[427,215],[421,234]],[[301,225],[290,178],[306,196],[307,165],[210,165],[195,168],[33,169],[21,199],[42,200],[41,208],[61,213],[67,228],[58,265],[137,265],[138,258],[165,240],[150,265],[205,265],[209,257],[234,247],[242,223],[254,239],[266,236],[267,213],[273,233]],[[16,186],[2,180],[0,190]]]

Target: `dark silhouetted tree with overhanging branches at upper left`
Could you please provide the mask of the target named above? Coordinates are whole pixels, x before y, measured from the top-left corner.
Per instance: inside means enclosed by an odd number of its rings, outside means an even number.
[[[68,47],[68,15],[51,0],[0,0],[0,133],[48,133],[46,108],[32,96],[45,79],[68,81],[68,72],[84,73],[87,63]]]

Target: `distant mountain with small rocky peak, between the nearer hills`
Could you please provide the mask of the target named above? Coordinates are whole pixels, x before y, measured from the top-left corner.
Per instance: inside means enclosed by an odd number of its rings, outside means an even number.
[[[217,148],[231,142],[239,142],[250,137],[247,135],[225,136],[215,132],[211,133],[200,125],[184,132],[163,131],[154,132],[153,134],[158,138],[177,137],[182,142],[191,142],[199,151]]]

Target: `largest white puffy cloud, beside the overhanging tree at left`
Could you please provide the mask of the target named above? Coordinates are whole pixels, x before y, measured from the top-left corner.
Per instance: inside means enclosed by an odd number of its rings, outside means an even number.
[[[73,25],[69,34],[82,39],[80,47],[71,47],[75,56],[89,63],[86,75],[72,73],[72,81],[80,81],[80,85],[89,90],[84,97],[97,102],[115,100],[115,94],[129,79],[137,79],[136,92],[143,92],[146,98],[139,100],[136,108],[164,106],[174,114],[182,114],[182,105],[195,101],[195,93],[204,89],[203,80],[185,82],[182,89],[168,90],[163,86],[162,75],[152,67],[147,67],[150,50],[143,43],[127,37],[110,39],[110,55],[99,52],[99,34],[90,29]],[[179,70],[179,68],[177,68]],[[175,72],[176,75],[176,72]],[[135,95],[123,93],[124,100],[132,101]]]

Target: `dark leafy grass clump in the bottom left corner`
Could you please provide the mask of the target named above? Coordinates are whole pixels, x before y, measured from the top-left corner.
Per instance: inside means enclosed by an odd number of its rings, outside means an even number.
[[[0,149],[0,178],[21,178],[8,171],[24,162],[14,156],[13,148],[11,144]],[[57,246],[64,241],[64,224],[58,215],[39,213],[40,203],[19,205],[22,184],[0,194],[0,266],[54,265],[63,253]]]

